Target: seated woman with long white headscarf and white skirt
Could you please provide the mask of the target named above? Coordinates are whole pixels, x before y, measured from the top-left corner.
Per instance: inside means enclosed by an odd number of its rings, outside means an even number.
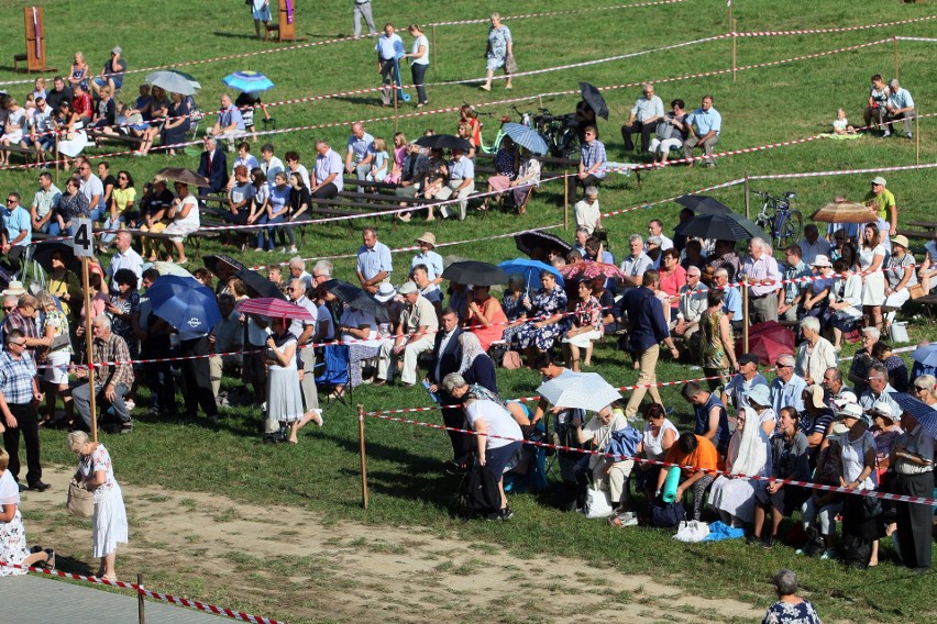
[[[726,475],[720,475],[709,490],[709,504],[731,526],[754,520],[754,492],[763,487],[763,482],[743,477],[768,477],[771,472],[771,444],[761,427],[752,426],[758,422],[751,408],[739,410],[726,455]]]

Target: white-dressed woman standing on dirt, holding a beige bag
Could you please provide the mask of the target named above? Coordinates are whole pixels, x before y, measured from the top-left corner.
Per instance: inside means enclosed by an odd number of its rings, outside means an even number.
[[[78,454],[78,470],[71,482],[95,492],[95,511],[91,513],[91,544],[95,557],[101,559],[97,577],[117,581],[118,544],[126,544],[126,509],[123,494],[114,479],[111,456],[104,445],[88,439],[81,431],[68,434],[68,448]]]

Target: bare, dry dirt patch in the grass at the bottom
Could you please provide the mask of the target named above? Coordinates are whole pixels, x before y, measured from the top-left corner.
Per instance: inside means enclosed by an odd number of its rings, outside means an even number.
[[[70,470],[47,469],[53,486],[27,492],[32,542],[55,547],[59,568],[88,573],[90,525],[69,519]],[[118,551],[123,580],[290,623],[597,622],[651,616],[661,622],[760,619],[762,609],[707,600],[650,577],[597,569],[575,559],[517,558],[498,547],[428,530],[350,522],[260,508],[223,497],[125,487],[131,543]],[[768,593],[768,592],[765,592]],[[769,597],[765,595],[765,600]]]

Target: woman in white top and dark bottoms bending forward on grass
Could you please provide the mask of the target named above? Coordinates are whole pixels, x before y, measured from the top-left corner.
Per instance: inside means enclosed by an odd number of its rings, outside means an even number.
[[[464,386],[467,383],[458,372],[450,372],[442,380],[443,389],[450,394]],[[477,434],[475,436],[476,460],[490,470],[498,480],[501,506],[500,510],[489,514],[488,520],[508,520],[514,515],[514,511],[507,504],[504,471],[520,450],[523,433],[510,412],[499,402],[490,399],[479,400],[470,395],[465,399],[462,409],[465,411],[468,426]]]

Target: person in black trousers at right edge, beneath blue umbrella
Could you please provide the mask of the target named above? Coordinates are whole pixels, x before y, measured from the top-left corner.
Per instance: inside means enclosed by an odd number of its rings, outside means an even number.
[[[922,415],[930,416],[926,409]],[[894,492],[929,497],[934,491],[934,437],[922,426],[921,416],[903,412],[905,433],[897,438],[891,461],[895,472]],[[930,505],[895,502],[897,549],[902,562],[917,573],[930,569],[933,510]]]

